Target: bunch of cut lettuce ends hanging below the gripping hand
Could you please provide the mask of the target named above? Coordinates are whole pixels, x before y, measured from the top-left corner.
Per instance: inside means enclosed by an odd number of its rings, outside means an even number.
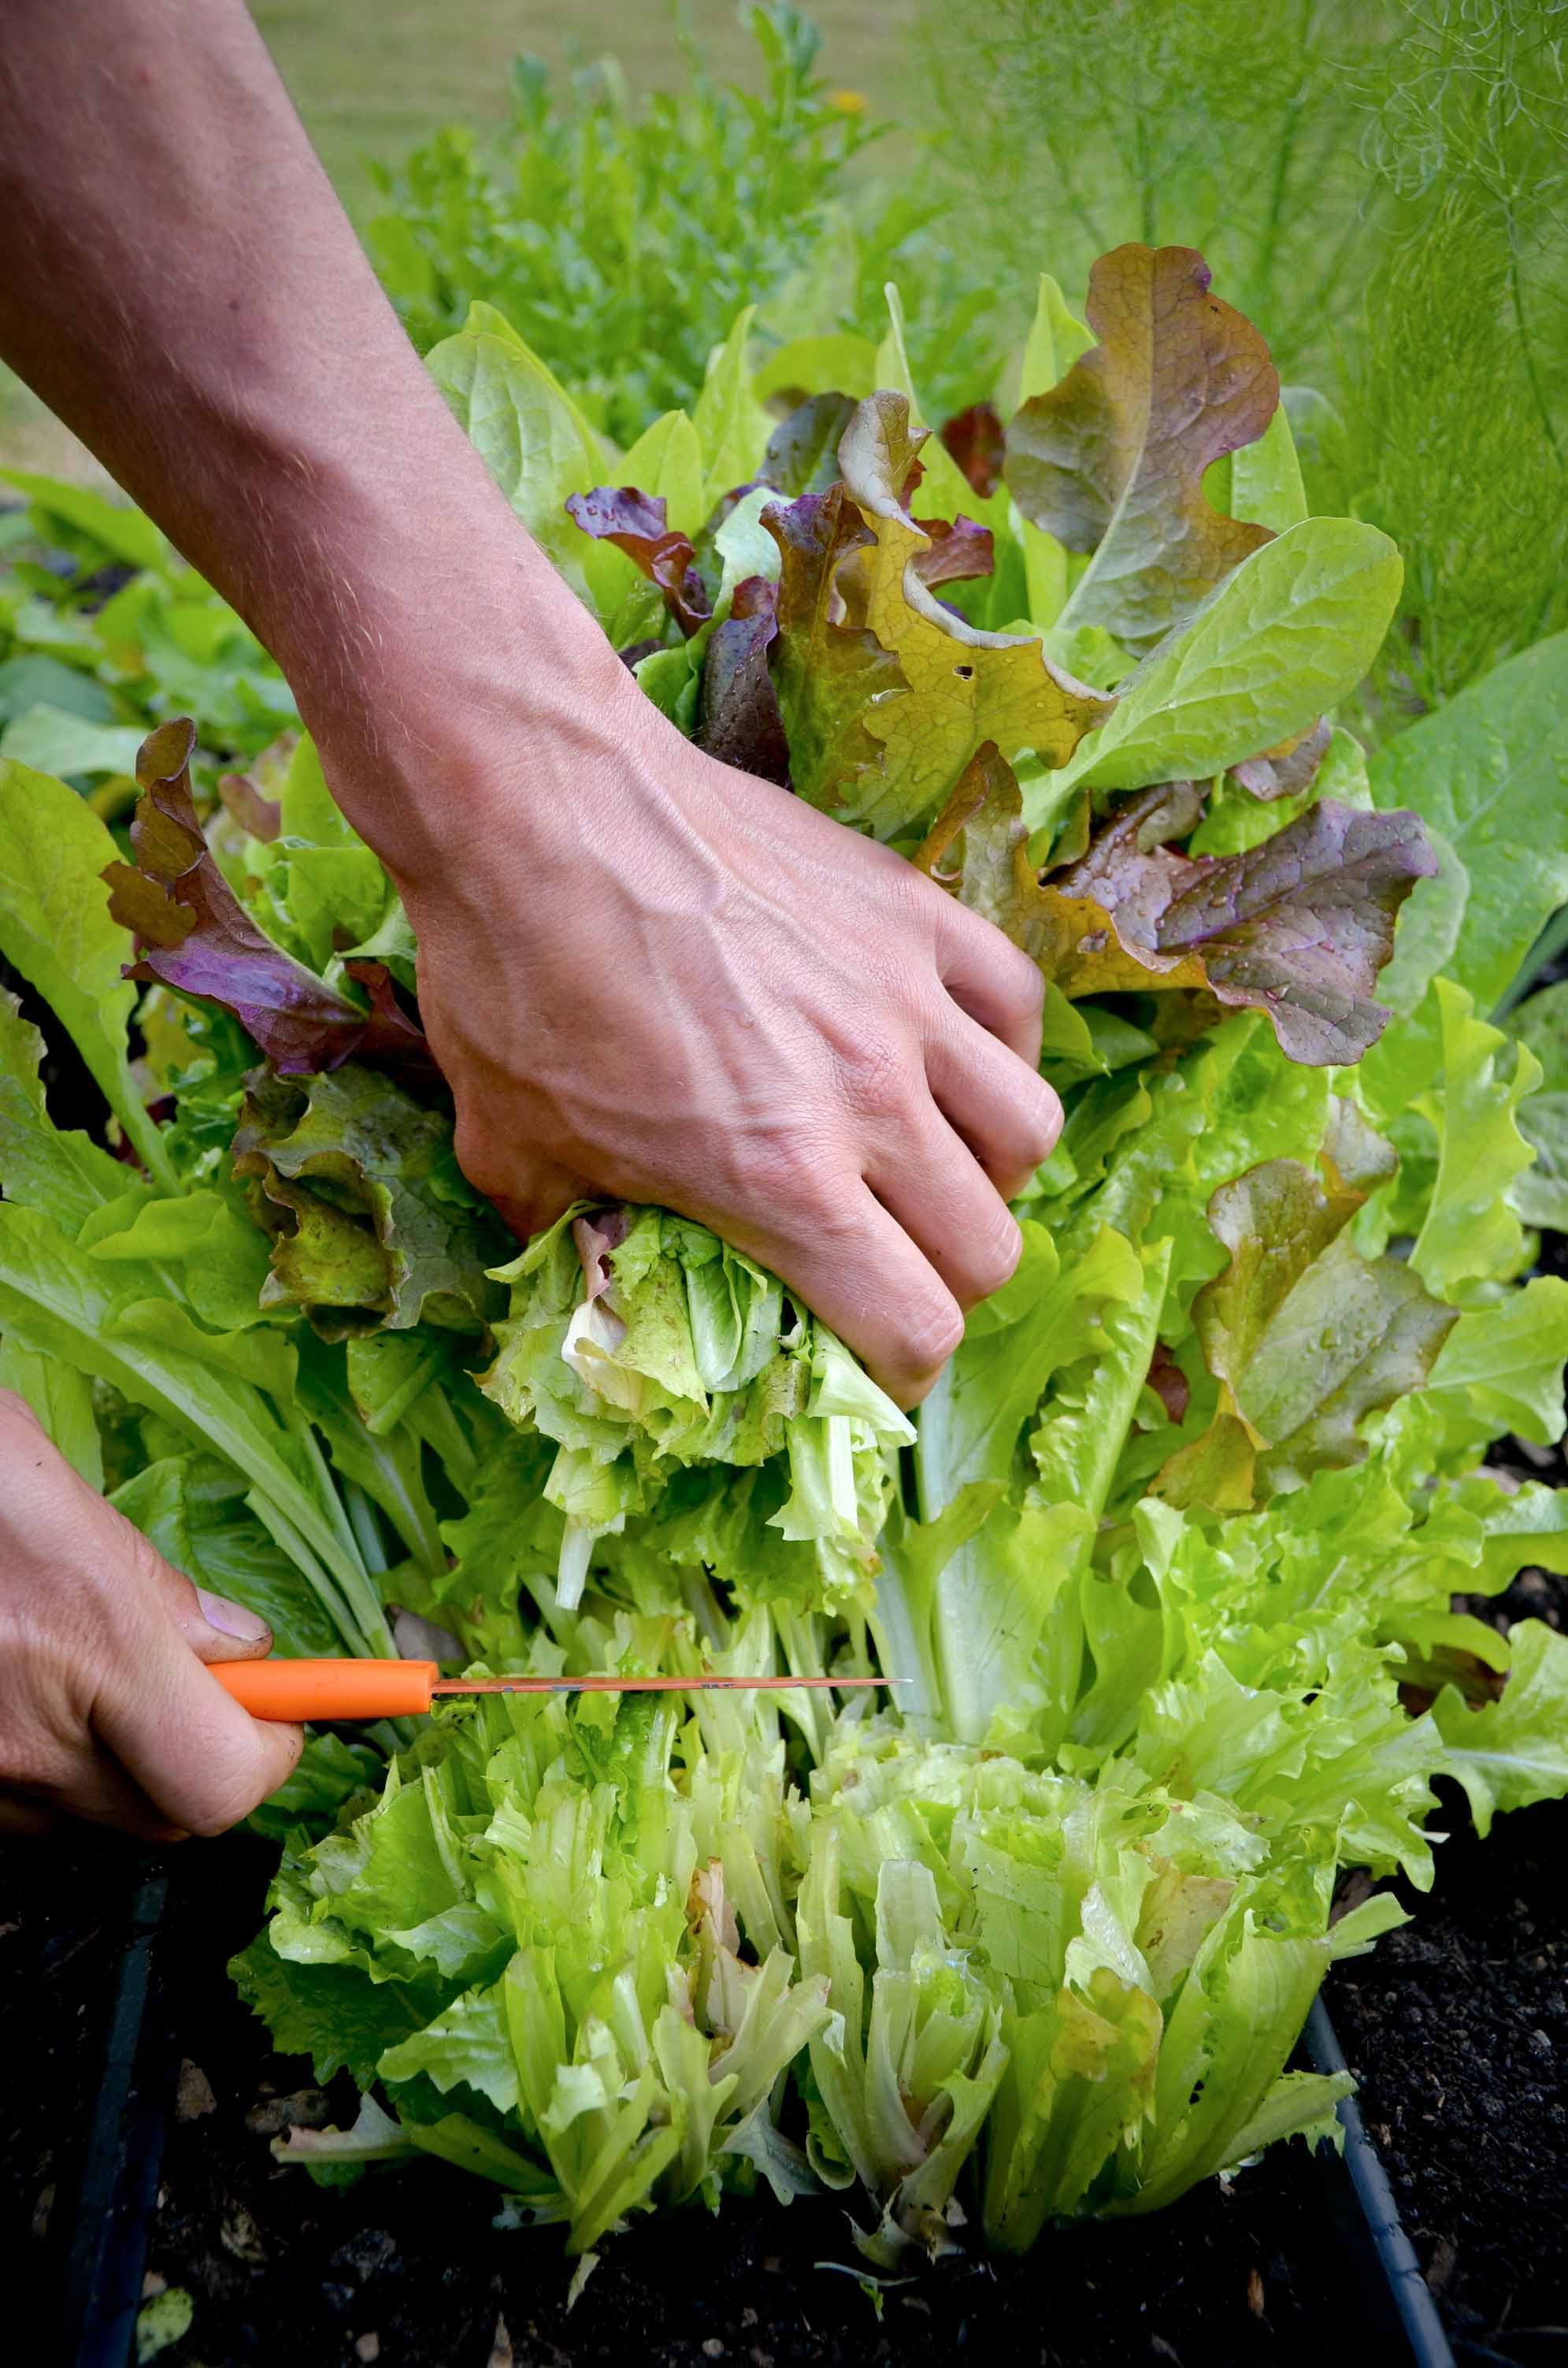
[[[820,1601],[876,1570],[893,1449],[912,1426],[836,1336],[703,1224],[658,1208],[568,1210],[495,1269],[512,1314],[481,1388],[557,1442],[561,1608],[595,1537],[651,1511],[689,1466],[767,1471],[765,1527],[812,1551]]]

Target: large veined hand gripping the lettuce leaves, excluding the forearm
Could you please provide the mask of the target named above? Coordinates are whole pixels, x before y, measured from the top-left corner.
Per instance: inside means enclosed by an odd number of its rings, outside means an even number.
[[[519,1234],[592,1196],[703,1220],[912,1404],[1014,1272],[1007,1198],[1061,1127],[1040,973],[623,668],[583,684],[464,744],[462,831],[393,857],[457,1158]]]

